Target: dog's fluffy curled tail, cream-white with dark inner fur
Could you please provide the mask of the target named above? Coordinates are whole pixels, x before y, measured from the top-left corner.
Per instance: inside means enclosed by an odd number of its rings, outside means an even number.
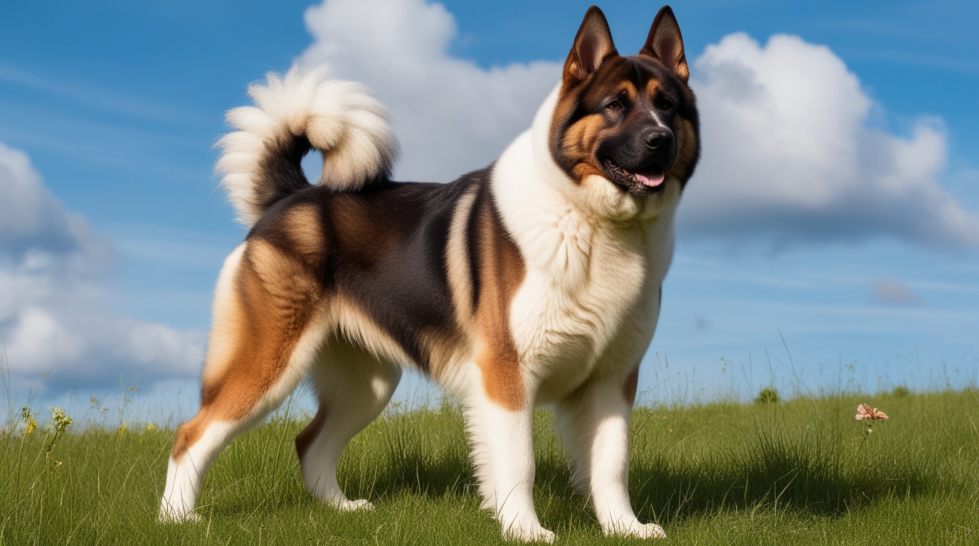
[[[397,141],[388,111],[365,86],[329,79],[326,68],[269,72],[249,86],[254,107],[228,112],[237,129],[217,141],[215,171],[238,219],[251,226],[280,199],[308,187],[300,161],[323,155],[317,185],[355,191],[391,174]]]

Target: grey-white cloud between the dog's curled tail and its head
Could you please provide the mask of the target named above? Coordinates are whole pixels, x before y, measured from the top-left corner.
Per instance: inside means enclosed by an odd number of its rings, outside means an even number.
[[[424,0],[327,0],[306,10],[305,23],[314,41],[300,64],[326,63],[366,83],[391,110],[404,180],[448,182],[489,165],[530,126],[561,73],[556,62],[487,69],[450,56],[455,19]]]

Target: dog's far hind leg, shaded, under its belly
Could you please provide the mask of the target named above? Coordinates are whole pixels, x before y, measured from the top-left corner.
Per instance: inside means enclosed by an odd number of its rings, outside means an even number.
[[[388,405],[401,369],[350,341],[331,340],[312,370],[319,411],[296,437],[303,481],[317,499],[340,510],[371,508],[365,499],[349,500],[337,481],[337,463],[357,432]]]

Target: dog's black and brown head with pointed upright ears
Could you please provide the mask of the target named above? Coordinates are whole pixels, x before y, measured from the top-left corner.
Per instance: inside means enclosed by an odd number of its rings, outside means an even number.
[[[632,196],[680,189],[700,154],[696,102],[673,10],[638,55],[620,56],[601,10],[584,16],[551,117],[551,156],[577,184],[594,175]]]

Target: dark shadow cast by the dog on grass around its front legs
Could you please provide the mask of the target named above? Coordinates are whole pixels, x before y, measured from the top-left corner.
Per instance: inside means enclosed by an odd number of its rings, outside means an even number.
[[[912,464],[853,465],[831,447],[760,435],[746,452],[710,461],[665,454],[633,460],[629,492],[640,520],[676,523],[722,510],[791,510],[838,517],[877,499],[917,496],[930,486],[925,472]],[[590,510],[584,510],[587,499],[575,493],[570,478],[563,453],[537,454],[535,494],[541,520],[594,523]],[[388,468],[379,469],[374,479],[353,485],[378,499],[403,493],[477,495],[464,448],[442,456],[407,448],[393,454]]]

